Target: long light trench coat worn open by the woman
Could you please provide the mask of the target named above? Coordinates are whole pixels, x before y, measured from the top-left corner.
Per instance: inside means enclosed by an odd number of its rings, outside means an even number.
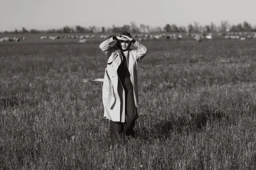
[[[110,119],[113,122],[125,122],[125,90],[119,82],[117,74],[117,69],[122,63],[123,57],[119,49],[110,48],[115,42],[116,40],[110,38],[99,45],[99,48],[104,52],[106,57],[108,57],[108,65],[107,68],[105,68],[102,87],[104,118]],[[147,48],[138,41],[134,42],[134,46],[137,50],[129,50],[126,61],[131,74],[135,106],[138,108],[137,61],[142,59],[148,51]]]

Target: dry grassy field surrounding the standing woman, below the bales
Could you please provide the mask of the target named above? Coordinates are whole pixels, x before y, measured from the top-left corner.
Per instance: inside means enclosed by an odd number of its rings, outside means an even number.
[[[148,40],[136,138],[111,142],[103,40],[0,43],[1,170],[255,170],[256,40]]]

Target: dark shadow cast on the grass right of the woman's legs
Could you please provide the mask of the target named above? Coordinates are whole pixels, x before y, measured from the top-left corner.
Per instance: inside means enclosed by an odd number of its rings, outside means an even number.
[[[138,130],[138,137],[148,140],[150,138],[161,139],[171,135],[171,133],[187,133],[192,131],[204,130],[207,123],[221,121],[223,118],[229,119],[223,111],[207,105],[201,106],[197,113],[182,116],[170,115],[168,119],[149,118],[148,121],[154,122],[152,125],[142,126]],[[148,118],[142,118],[148,119]],[[150,120],[151,119],[151,120]],[[145,122],[145,121],[144,121]]]

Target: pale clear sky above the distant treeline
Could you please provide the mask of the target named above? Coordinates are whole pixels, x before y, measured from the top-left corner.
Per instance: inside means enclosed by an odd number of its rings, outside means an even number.
[[[0,0],[0,31],[64,26],[256,25],[256,0]]]

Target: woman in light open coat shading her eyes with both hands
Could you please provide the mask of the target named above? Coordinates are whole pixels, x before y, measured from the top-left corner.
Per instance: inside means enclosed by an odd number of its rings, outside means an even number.
[[[131,43],[137,48],[132,50]],[[135,120],[138,118],[137,61],[147,54],[147,48],[123,31],[119,37],[112,36],[99,45],[108,57],[108,65],[102,88],[104,117],[110,119],[111,136],[124,132],[134,136]]]

